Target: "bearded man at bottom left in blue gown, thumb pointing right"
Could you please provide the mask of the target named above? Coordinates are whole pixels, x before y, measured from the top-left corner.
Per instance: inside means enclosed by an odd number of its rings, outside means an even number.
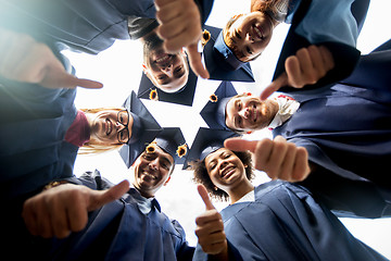
[[[62,181],[74,184],[56,184],[29,199],[23,216],[31,234],[66,237],[80,231],[65,239],[50,239],[50,251],[35,252],[40,254],[37,257],[41,260],[191,260],[194,249],[188,246],[182,227],[161,212],[154,198],[168,183],[175,164],[185,161],[186,152],[180,129],[165,128],[139,153],[122,154],[134,171],[133,186],[122,197],[126,182],[113,187],[94,171],[80,178]],[[106,188],[110,188],[106,201],[111,197],[121,198],[103,206],[104,201],[96,194]],[[36,240],[35,251],[41,246],[39,243],[48,244]]]

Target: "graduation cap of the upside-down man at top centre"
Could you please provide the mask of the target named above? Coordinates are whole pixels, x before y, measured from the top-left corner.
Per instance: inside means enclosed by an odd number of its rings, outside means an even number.
[[[179,91],[169,94],[159,89],[152,84],[146,74],[142,74],[137,97],[142,99],[150,99],[151,91],[153,91],[157,95],[159,101],[178,103],[182,105],[192,105],[197,79],[197,75],[191,70],[189,70],[187,84]]]

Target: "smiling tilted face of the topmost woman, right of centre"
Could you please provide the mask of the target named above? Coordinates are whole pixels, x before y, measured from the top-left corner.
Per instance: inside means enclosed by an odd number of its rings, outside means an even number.
[[[224,40],[236,57],[250,61],[262,53],[269,44],[274,25],[268,15],[262,12],[251,12],[241,15],[227,32]]]

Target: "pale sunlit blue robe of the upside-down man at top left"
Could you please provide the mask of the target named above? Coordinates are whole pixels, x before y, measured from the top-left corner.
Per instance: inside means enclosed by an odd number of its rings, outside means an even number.
[[[0,23],[7,27],[90,54],[108,49],[116,39],[129,39],[128,16],[154,18],[156,12],[153,0],[0,0]],[[213,1],[197,3],[203,11],[204,23]]]

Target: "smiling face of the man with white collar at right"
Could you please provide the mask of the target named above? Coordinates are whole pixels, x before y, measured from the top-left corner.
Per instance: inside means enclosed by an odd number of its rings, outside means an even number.
[[[232,97],[226,107],[226,125],[235,130],[255,130],[273,120],[267,102],[255,96]]]

